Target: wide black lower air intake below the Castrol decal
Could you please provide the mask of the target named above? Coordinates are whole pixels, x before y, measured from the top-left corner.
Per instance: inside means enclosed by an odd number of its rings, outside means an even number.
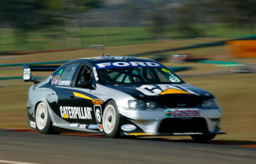
[[[201,132],[207,133],[208,128],[204,118],[169,118],[163,119],[160,124],[158,133],[186,133]]]

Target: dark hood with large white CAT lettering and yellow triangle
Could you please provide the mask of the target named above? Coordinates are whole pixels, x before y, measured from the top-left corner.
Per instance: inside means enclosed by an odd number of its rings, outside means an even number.
[[[198,102],[214,98],[206,90],[182,84],[150,84],[150,85],[107,85],[107,87],[120,90],[133,96],[135,99],[157,102],[166,107],[196,107]]]

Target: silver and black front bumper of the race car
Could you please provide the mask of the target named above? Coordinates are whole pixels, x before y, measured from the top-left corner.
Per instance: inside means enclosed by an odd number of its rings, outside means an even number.
[[[200,134],[223,134],[220,118],[222,111],[218,109],[177,108],[168,109],[173,114],[166,114],[167,109],[155,110],[118,107],[120,127],[134,125],[136,128],[120,128],[122,136],[187,136]],[[176,114],[175,114],[175,111]],[[199,114],[189,115],[196,111]],[[177,114],[178,113],[178,114]],[[185,113],[185,114],[182,114]]]

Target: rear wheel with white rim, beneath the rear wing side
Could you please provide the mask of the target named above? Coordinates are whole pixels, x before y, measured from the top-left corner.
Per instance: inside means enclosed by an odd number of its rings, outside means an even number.
[[[44,102],[40,102],[35,111],[35,124],[40,133],[43,134],[59,134],[61,132],[55,132],[52,130],[52,121],[48,114],[47,106]]]

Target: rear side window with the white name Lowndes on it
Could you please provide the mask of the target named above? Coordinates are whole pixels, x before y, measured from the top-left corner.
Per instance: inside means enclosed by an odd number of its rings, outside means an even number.
[[[58,85],[69,86],[78,65],[79,63],[67,65],[61,74]]]

